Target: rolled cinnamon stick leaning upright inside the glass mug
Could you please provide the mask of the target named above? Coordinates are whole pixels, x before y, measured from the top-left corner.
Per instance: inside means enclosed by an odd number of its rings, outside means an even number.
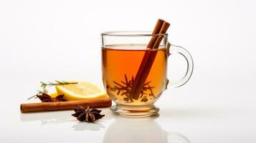
[[[153,65],[153,61],[156,58],[157,50],[161,40],[163,39],[163,35],[157,34],[165,34],[170,24],[162,19],[158,19],[156,26],[152,32],[153,36],[151,40],[148,42],[148,46],[143,59],[141,61],[141,65],[137,71],[136,77],[134,79],[133,85],[131,87],[131,100],[138,99],[141,94],[141,90],[143,89],[143,85],[148,78],[148,74],[151,70],[151,66]],[[156,34],[156,35],[154,35]]]

